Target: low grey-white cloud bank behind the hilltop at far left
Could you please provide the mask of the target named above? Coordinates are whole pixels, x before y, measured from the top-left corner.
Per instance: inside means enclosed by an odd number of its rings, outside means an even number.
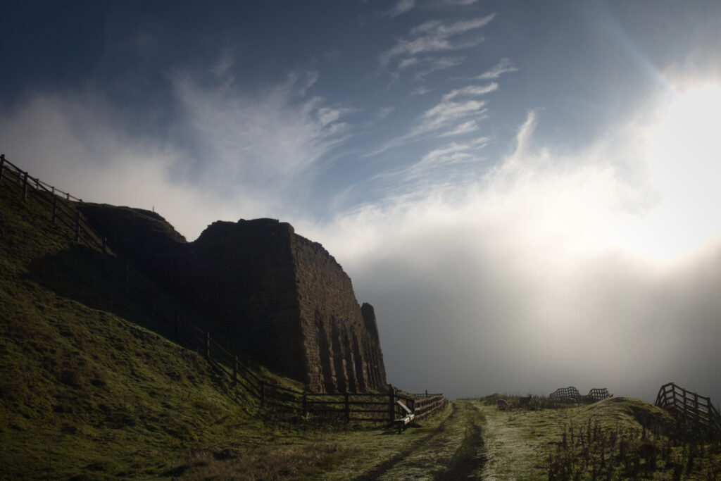
[[[215,219],[237,220],[212,190],[174,175],[180,151],[128,136],[108,112],[97,94],[37,94],[0,120],[0,144],[9,160],[60,190],[87,202],[155,208],[190,239]],[[242,192],[233,200],[262,208]]]

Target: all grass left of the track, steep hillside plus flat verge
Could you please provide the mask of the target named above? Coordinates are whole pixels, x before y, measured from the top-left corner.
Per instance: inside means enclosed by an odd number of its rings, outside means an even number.
[[[0,479],[345,480],[441,425],[280,423],[20,196],[0,181]]]

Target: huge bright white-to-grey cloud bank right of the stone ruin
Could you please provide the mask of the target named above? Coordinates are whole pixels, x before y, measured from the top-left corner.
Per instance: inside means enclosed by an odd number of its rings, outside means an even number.
[[[655,209],[647,204],[654,177],[642,175],[655,168],[653,149],[639,142],[655,121],[617,125],[564,153],[535,145],[537,122],[531,112],[516,149],[479,180],[401,190],[332,223],[296,225],[376,306],[384,346],[392,346],[384,351],[389,380],[451,396],[574,384],[653,400],[674,379],[717,398],[709,373],[721,368],[712,341],[721,336],[712,320],[721,316],[721,237],[673,262],[627,237],[650,226]],[[433,177],[436,167],[473,156],[466,144],[448,144],[397,177]],[[691,177],[714,172],[703,169]],[[694,188],[690,177],[679,181]],[[716,205],[694,215],[718,236]],[[684,224],[666,235],[673,229]],[[408,343],[411,331],[424,334]],[[693,345],[694,356],[678,345]],[[430,351],[446,353],[440,368]]]

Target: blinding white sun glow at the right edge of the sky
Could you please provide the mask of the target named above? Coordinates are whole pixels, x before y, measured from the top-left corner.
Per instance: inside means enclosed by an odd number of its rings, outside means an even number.
[[[721,85],[678,92],[648,131],[646,159],[658,204],[632,237],[659,260],[721,234]]]

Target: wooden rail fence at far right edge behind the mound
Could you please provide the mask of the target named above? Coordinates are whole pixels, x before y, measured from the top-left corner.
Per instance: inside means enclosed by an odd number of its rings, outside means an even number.
[[[669,382],[658,389],[655,404],[672,411],[681,420],[693,423],[696,428],[721,434],[721,415],[711,404],[710,397],[701,396]]]

